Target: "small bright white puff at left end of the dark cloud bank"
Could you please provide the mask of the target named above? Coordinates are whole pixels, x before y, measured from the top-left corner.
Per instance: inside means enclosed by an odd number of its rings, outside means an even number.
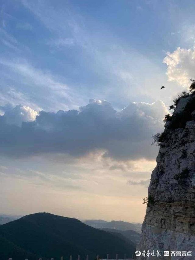
[[[23,122],[34,121],[37,115],[37,111],[29,106],[17,105],[15,108],[6,111],[4,117],[7,124],[21,126]]]

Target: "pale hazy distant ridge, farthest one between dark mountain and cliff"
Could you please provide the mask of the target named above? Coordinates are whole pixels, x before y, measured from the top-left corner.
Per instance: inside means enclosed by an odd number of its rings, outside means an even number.
[[[138,233],[141,233],[142,224],[134,224],[125,221],[115,221],[112,220],[110,222],[104,220],[85,220],[83,223],[95,227],[95,228],[112,228],[118,230],[134,230]]]

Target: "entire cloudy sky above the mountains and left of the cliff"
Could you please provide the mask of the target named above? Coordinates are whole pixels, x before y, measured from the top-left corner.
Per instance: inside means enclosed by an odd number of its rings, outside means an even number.
[[[194,11],[191,0],[1,2],[0,213],[144,220],[152,135],[195,77]]]

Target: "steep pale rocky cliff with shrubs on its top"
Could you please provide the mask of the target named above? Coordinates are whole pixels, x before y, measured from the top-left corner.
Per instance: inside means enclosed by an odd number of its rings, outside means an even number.
[[[192,251],[195,259],[195,95],[178,98],[174,108],[156,140],[160,149],[137,250],[161,251],[158,259],[188,259],[185,252],[177,257],[171,251]]]

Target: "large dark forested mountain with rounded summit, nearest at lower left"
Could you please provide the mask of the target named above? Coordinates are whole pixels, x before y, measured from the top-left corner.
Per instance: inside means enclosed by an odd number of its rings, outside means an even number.
[[[118,234],[87,226],[80,220],[35,213],[12,222],[0,225],[0,259],[13,260],[28,258],[51,259],[64,256],[81,255],[86,259],[88,254],[94,260],[97,254],[105,257],[107,253],[114,257],[135,251],[135,244]]]

